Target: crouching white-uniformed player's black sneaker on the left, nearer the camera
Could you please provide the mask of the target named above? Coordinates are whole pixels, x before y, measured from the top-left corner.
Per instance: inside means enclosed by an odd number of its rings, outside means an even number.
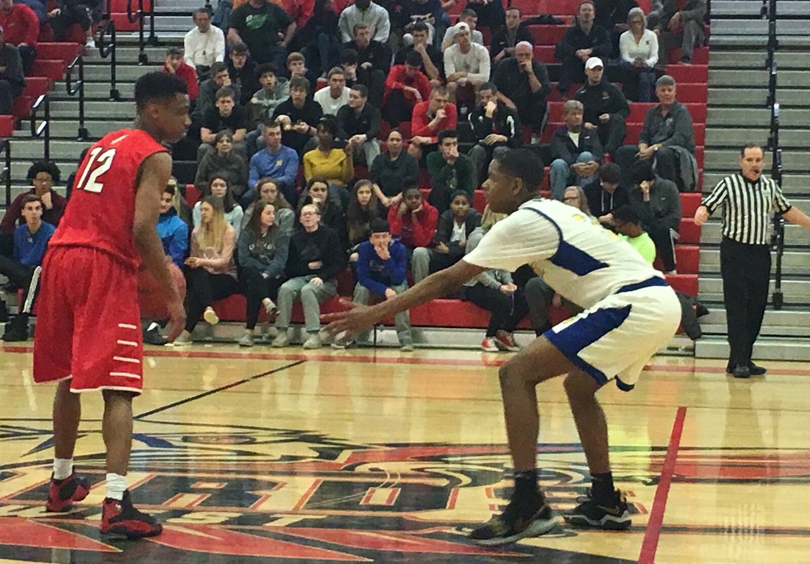
[[[500,546],[519,541],[527,536],[539,536],[549,532],[556,525],[556,519],[543,494],[531,502],[516,502],[514,498],[501,515],[470,533],[470,538],[478,545]]]

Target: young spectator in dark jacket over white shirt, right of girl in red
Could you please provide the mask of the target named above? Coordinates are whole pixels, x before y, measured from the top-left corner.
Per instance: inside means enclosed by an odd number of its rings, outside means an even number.
[[[413,281],[419,283],[428,274],[452,267],[464,256],[467,237],[481,223],[481,214],[472,207],[463,190],[450,194],[450,209],[439,216],[432,247],[417,247],[411,256]]]

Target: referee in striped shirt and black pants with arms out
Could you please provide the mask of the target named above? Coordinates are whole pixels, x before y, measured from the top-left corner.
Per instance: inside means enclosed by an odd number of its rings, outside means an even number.
[[[764,157],[757,145],[740,149],[742,172],[718,182],[695,212],[695,224],[702,225],[714,210],[723,208],[720,273],[731,348],[727,372],[735,378],[765,374],[751,361],[751,354],[768,302],[774,214],[810,229],[810,217],[791,206],[776,182],[762,177]]]

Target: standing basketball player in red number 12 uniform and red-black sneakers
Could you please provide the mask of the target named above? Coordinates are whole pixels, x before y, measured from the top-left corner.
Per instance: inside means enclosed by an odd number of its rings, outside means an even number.
[[[89,484],[73,470],[80,394],[104,396],[107,497],[101,532],[139,538],[162,528],[136,510],[126,489],[132,446],[132,399],[143,386],[138,268],[167,294],[169,340],[185,325],[183,304],[156,232],[160,196],[174,142],[190,125],[185,83],[152,72],[135,83],[135,128],[105,135],[76,173],[65,216],[42,265],[34,338],[34,381],[59,382],[53,401],[55,458],[48,511],[67,511]]]

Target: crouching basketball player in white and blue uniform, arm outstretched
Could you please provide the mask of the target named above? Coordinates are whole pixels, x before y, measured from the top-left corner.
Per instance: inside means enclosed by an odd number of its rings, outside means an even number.
[[[608,425],[595,393],[614,378],[621,390],[631,390],[646,361],[680,323],[680,303],[661,273],[576,208],[539,199],[542,180],[543,163],[533,152],[513,149],[496,157],[484,190],[492,211],[510,215],[495,224],[474,251],[391,300],[325,316],[332,321],[328,331],[354,333],[444,297],[485,270],[514,271],[523,264],[584,308],[499,370],[515,487],[505,511],[471,533],[481,545],[504,545],[554,527],[551,507],[537,485],[535,387],[562,374],[592,476],[589,497],[564,515],[565,520],[604,529],[630,526],[625,498],[613,485]]]

